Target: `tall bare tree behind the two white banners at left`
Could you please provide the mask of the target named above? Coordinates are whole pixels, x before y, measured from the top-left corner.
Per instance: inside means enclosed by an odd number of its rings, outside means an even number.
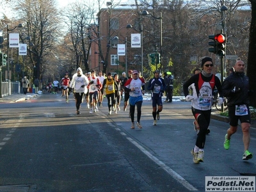
[[[25,0],[17,1],[15,9],[20,19],[26,21],[26,29],[22,34],[30,36],[33,46],[29,49],[31,64],[34,69],[33,77],[42,78],[44,64],[51,55],[54,44],[58,40],[58,11],[54,0]]]

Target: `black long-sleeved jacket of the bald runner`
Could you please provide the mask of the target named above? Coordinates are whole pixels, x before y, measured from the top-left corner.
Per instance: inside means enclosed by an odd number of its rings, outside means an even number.
[[[249,104],[249,78],[244,73],[233,72],[223,81],[222,92],[228,106]]]

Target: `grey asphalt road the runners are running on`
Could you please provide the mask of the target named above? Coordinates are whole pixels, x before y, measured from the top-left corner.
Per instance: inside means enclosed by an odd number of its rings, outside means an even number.
[[[242,161],[241,130],[223,148],[228,124],[211,120],[204,163],[194,164],[189,102],[164,103],[152,125],[150,100],[141,125],[131,129],[128,111],[98,113],[74,100],[44,94],[0,104],[0,191],[205,191],[205,176],[256,175],[255,160]],[[250,151],[255,154],[255,129]]]

